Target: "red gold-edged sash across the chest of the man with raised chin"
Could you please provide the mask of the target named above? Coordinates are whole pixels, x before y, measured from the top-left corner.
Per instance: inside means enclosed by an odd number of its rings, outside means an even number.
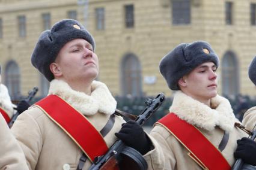
[[[103,136],[81,113],[56,95],[49,95],[35,103],[56,125],[59,126],[87,154],[93,162],[95,157],[108,151]],[[83,130],[82,130],[83,129]]]

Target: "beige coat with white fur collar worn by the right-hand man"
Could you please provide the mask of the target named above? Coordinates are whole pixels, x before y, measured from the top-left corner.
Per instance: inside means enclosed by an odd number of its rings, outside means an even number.
[[[216,96],[211,100],[210,108],[178,91],[174,95],[169,111],[175,113],[180,119],[186,120],[187,123],[196,126],[216,148],[222,140],[224,131],[227,131],[229,139],[221,153],[229,165],[233,165],[235,162],[233,153],[237,147],[236,141],[248,135],[234,126],[234,123],[239,122],[239,120],[235,118],[227,99]],[[162,153],[154,157],[154,162],[158,163],[152,164],[151,169],[202,169],[197,162],[188,156],[187,149],[163,126],[156,124],[150,135],[156,139],[162,148]]]

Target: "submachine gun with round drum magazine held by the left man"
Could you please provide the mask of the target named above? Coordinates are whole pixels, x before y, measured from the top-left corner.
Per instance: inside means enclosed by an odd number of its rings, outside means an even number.
[[[135,122],[142,126],[150,116],[156,112],[156,110],[165,101],[163,93],[159,93],[155,99],[147,99],[145,104],[147,107],[142,111],[141,114],[135,119]],[[103,156],[96,157],[93,165],[89,170],[98,169],[134,169],[134,170],[145,170],[147,169],[147,162],[142,157],[139,151],[128,147],[120,139],[117,140]]]

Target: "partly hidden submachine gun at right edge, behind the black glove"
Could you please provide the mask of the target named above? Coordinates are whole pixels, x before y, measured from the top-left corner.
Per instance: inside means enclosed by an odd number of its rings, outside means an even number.
[[[237,126],[239,126],[239,125],[237,125]],[[252,131],[246,130],[243,126],[240,127],[240,128],[244,129],[244,131],[246,133],[249,133],[249,137],[248,138],[250,138],[250,139],[252,139],[254,141],[254,139],[256,137],[255,126],[254,126],[254,130],[252,130]],[[237,159],[236,162],[234,163],[234,165],[232,166],[231,170],[256,170],[256,167],[252,166],[252,165],[249,165],[247,163],[244,163],[242,159]]]

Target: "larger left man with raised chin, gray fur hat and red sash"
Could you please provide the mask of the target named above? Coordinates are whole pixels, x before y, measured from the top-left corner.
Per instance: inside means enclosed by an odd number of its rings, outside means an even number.
[[[50,81],[49,95],[11,128],[29,169],[88,169],[117,140],[115,133],[145,159],[156,153],[138,123],[121,129],[123,118],[113,115],[117,102],[105,84],[95,81],[94,51],[92,35],[76,20],[61,20],[40,35],[31,62]]]

